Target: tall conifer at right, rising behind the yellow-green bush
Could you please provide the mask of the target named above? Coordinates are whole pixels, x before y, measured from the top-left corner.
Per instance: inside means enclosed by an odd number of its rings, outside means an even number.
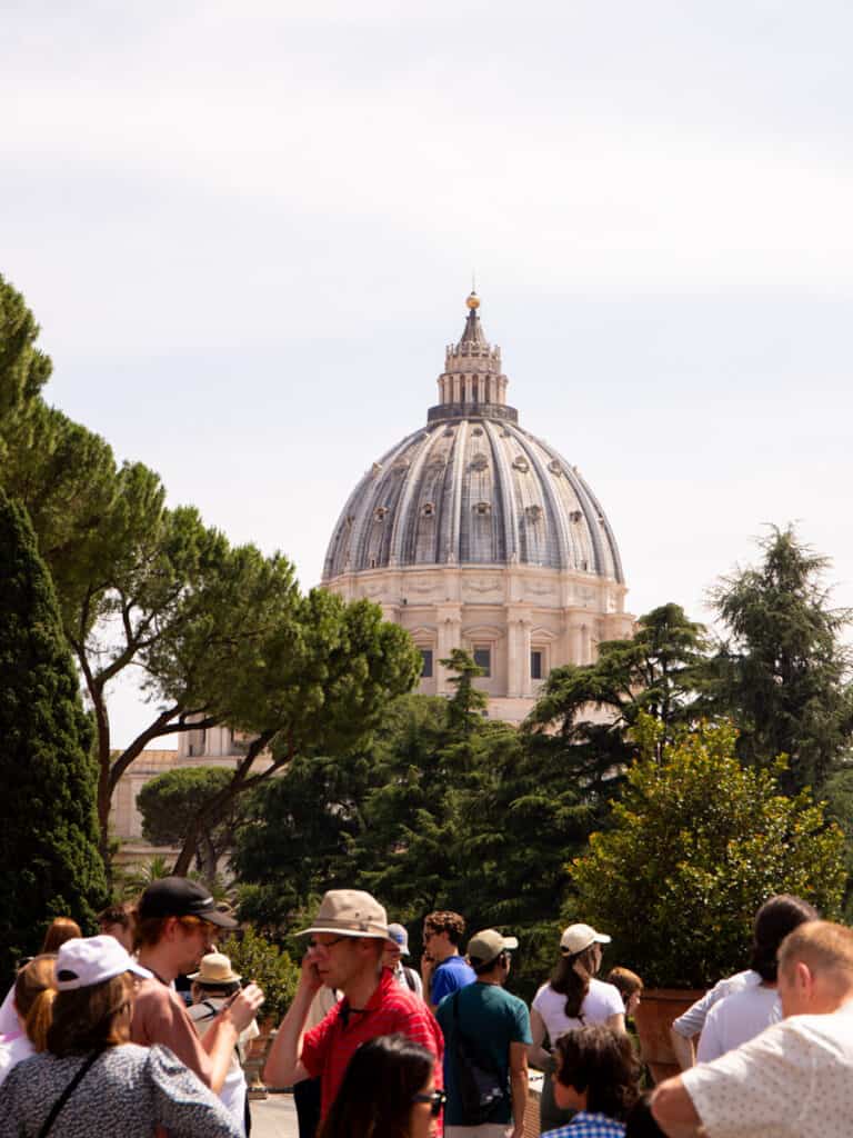
[[[715,659],[717,706],[742,729],[740,758],[771,765],[788,757],[788,793],[819,787],[853,732],[850,613],[831,609],[827,558],[773,527],[760,543],[763,561],[723,577],[712,591],[729,633]]]

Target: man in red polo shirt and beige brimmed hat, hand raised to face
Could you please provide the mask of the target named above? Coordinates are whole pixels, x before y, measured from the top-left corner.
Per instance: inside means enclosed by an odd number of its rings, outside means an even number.
[[[324,1118],[356,1048],[367,1039],[395,1032],[432,1052],[440,1080],[444,1038],[434,1016],[382,966],[388,940],[382,906],[357,889],[330,890],[314,924],[299,935],[310,935],[310,943],[293,1003],[264,1067],[265,1081],[287,1087],[320,1077]],[[308,1008],[321,984],[342,991],[343,999],[322,1023],[305,1032]]]

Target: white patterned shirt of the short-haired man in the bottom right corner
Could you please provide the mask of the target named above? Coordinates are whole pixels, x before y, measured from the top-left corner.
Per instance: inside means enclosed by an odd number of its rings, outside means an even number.
[[[782,1020],[681,1079],[709,1138],[850,1138],[853,1005]]]

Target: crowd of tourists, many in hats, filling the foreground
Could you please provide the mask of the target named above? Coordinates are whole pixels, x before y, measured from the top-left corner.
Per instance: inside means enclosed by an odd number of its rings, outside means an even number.
[[[234,918],[166,877],[100,927],[55,921],[0,1006],[0,1138],[247,1138],[264,997],[215,950]],[[853,931],[798,898],[759,909],[748,967],[673,1022],[682,1070],[653,1089],[632,1029],[643,981],[598,979],[611,938],[588,924],[563,931],[529,1008],[507,990],[516,939],[465,940],[457,913],[424,920],[420,970],[407,930],[359,890],[328,892],[299,935],[264,1079],[293,1089],[300,1138],[853,1132]]]

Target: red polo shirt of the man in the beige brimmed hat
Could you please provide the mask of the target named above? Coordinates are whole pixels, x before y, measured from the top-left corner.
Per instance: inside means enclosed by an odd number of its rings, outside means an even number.
[[[441,1085],[445,1042],[436,1017],[414,992],[400,988],[390,968],[382,968],[382,978],[366,1007],[350,1008],[349,1000],[342,999],[303,1040],[303,1066],[313,1079],[322,1077],[323,1118],[334,1102],[356,1048],[376,1036],[395,1032],[432,1052],[437,1061],[436,1086]]]

